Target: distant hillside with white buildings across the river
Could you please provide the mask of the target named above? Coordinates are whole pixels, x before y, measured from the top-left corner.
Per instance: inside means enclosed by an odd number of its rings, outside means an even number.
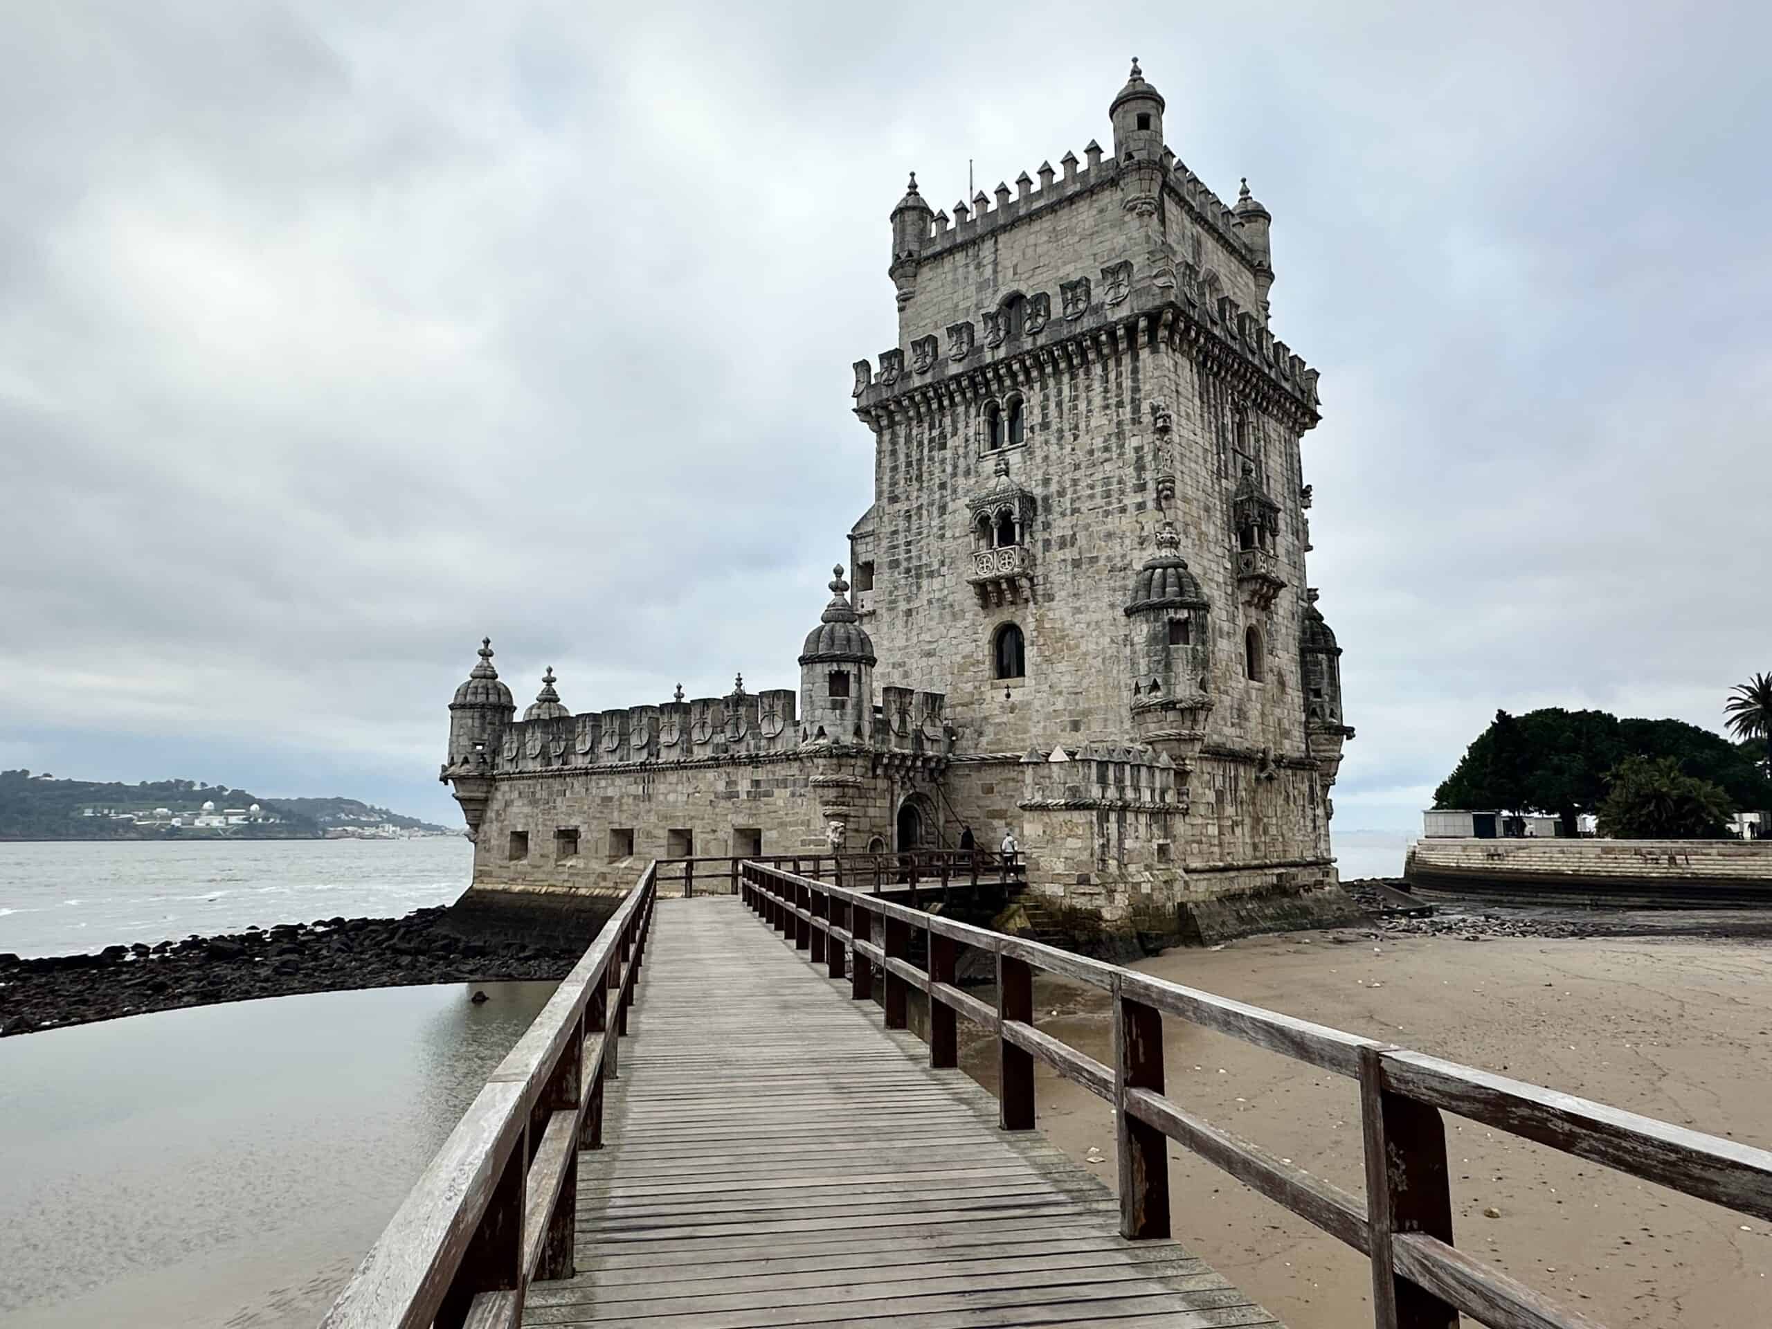
[[[358,799],[259,797],[195,780],[136,785],[0,771],[0,840],[321,840],[457,835]]]

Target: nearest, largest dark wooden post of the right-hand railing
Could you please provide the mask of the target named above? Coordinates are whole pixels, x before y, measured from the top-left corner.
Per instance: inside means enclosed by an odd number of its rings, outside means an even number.
[[[1451,1246],[1451,1178],[1439,1109],[1384,1088],[1386,1051],[1359,1049],[1373,1324],[1377,1329],[1457,1329],[1457,1310],[1396,1274],[1391,1239],[1398,1233],[1421,1232]]]

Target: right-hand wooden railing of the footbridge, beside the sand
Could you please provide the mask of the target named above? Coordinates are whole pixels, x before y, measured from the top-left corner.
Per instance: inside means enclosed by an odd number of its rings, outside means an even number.
[[[1120,1155],[1120,1232],[1170,1235],[1168,1141],[1193,1150],[1372,1260],[1379,1329],[1449,1329],[1469,1315],[1494,1329],[1597,1329],[1453,1246],[1441,1111],[1600,1162],[1745,1216],[1772,1221],[1772,1152],[1699,1134],[1506,1076],[1411,1053],[1180,983],[957,923],[939,914],[781,872],[741,868],[746,904],[813,964],[872,999],[881,973],[888,1030],[909,1026],[911,989],[929,996],[929,1060],[959,1060],[957,1017],[998,1038],[999,1122],[1031,1131],[1035,1058],[1106,1099]],[[874,920],[884,944],[874,943]],[[927,968],[911,937],[927,941]],[[955,985],[959,946],[996,957],[996,1005]],[[847,957],[847,966],[845,966]],[[1033,975],[1086,983],[1113,999],[1113,1065],[1042,1033]],[[1352,1194],[1216,1127],[1164,1092],[1162,1017],[1200,1024],[1359,1083],[1366,1193]]]

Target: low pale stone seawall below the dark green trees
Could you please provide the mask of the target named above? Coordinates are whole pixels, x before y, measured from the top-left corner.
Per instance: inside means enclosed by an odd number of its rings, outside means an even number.
[[[1403,875],[1423,893],[1497,904],[1772,907],[1772,842],[1419,840]]]

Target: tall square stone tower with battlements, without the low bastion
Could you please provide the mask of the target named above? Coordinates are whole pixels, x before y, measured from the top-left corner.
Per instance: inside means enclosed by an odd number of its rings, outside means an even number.
[[[1333,881],[1352,734],[1340,702],[1308,714],[1334,664],[1302,595],[1317,372],[1271,331],[1272,216],[1247,183],[1221,202],[1162,113],[1134,60],[1111,154],[1090,142],[952,216],[913,177],[890,218],[898,344],[854,386],[874,505],[851,548],[879,670],[946,695],[962,817],[1019,824],[1035,852],[1045,803],[1092,804],[1076,875],[1102,898]],[[1139,822],[1148,785],[1028,767],[1084,750],[1131,762],[1125,781],[1173,764],[1162,824]]]

